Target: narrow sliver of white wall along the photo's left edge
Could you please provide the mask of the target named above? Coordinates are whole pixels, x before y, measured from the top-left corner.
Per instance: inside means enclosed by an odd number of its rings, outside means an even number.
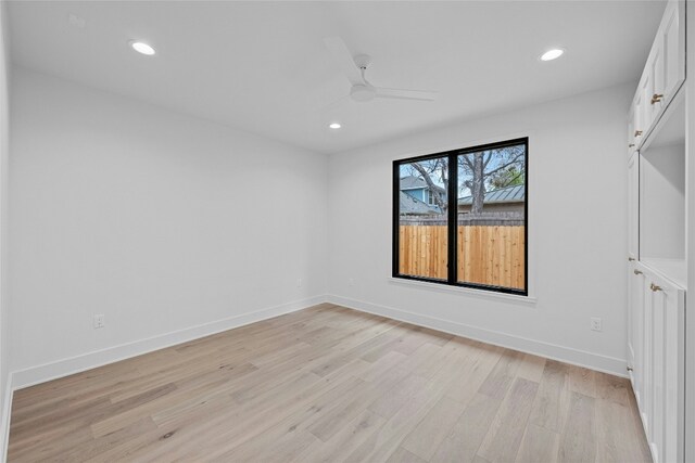
[[[0,455],[4,455],[4,437],[9,420],[10,372],[8,349],[8,193],[10,158],[10,55],[7,3],[0,0]],[[1,456],[0,456],[1,458]]]

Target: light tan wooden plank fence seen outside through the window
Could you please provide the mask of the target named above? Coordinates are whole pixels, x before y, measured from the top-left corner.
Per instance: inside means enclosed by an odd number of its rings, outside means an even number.
[[[401,224],[400,273],[446,279],[445,226]],[[457,280],[523,290],[523,226],[458,226]]]

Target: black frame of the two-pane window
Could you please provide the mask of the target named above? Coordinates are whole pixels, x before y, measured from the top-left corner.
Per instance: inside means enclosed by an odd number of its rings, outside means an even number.
[[[523,198],[523,290],[516,290],[513,287],[494,286],[480,283],[468,283],[457,281],[457,259],[458,259],[458,159],[457,156],[462,154],[475,153],[477,151],[494,150],[506,146],[516,146],[523,144],[526,146],[526,154],[523,156],[525,165],[525,198]],[[446,217],[446,237],[447,237],[447,278],[446,280],[406,275],[399,272],[399,248],[400,248],[400,183],[401,183],[401,166],[409,163],[417,163],[420,160],[434,159],[440,157],[448,158],[448,191],[446,192],[446,201],[448,203],[447,217]],[[454,207],[452,207],[452,203]],[[454,227],[452,227],[454,223]],[[514,294],[519,296],[529,295],[529,138],[522,137],[511,140],[505,140],[495,143],[480,144],[476,146],[467,146],[456,150],[443,151],[440,153],[426,154],[422,156],[406,157],[403,159],[393,160],[393,221],[392,221],[392,268],[391,276],[414,280],[428,283],[442,284],[446,286],[467,287],[473,290],[483,290],[494,293]]]

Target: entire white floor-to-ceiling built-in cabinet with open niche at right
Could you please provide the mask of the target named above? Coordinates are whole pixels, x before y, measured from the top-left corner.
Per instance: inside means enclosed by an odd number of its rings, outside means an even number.
[[[694,435],[684,412],[684,81],[685,3],[669,0],[628,114],[628,370],[656,463],[685,462]]]

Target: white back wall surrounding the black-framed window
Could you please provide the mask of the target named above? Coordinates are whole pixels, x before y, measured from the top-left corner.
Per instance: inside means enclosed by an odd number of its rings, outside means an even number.
[[[331,156],[332,300],[624,375],[624,125],[633,90],[620,86]],[[391,282],[393,159],[526,136],[529,287],[538,300]],[[591,317],[603,319],[603,332],[590,331]]]

